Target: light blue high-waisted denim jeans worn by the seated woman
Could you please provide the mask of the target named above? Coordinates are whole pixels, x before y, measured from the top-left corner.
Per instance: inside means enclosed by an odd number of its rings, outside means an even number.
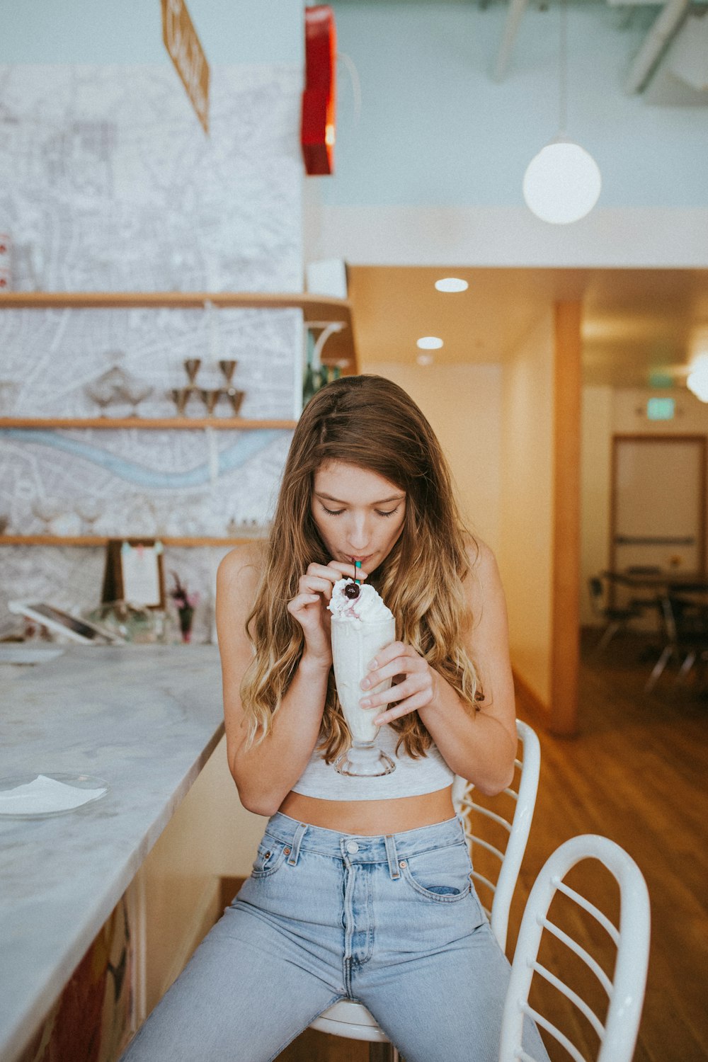
[[[359,837],[277,813],[252,876],[122,1062],[270,1062],[338,999],[405,1062],[497,1062],[508,963],[461,823]],[[530,1023],[524,1047],[548,1056]]]

